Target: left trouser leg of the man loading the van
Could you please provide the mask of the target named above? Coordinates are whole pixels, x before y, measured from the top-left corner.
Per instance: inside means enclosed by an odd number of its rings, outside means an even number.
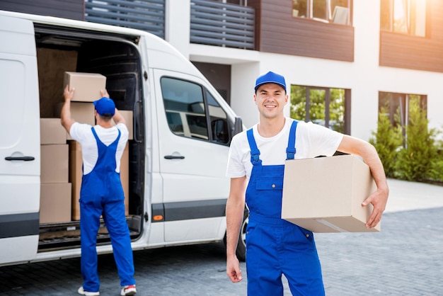
[[[81,275],[84,278],[83,288],[89,292],[100,289],[96,245],[101,213],[99,205],[80,202]]]

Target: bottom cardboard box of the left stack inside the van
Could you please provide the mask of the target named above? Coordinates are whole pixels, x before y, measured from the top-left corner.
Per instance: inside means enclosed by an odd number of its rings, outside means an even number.
[[[40,223],[71,221],[71,183],[40,184]]]

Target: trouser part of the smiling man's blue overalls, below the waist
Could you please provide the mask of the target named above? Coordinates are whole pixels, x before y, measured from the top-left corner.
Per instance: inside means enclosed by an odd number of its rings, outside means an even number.
[[[282,274],[292,295],[325,295],[313,234],[281,220],[249,220],[246,236],[248,295],[283,295]]]

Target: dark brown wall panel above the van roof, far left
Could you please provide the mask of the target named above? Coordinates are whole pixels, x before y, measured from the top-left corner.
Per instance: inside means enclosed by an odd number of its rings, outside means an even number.
[[[0,10],[84,20],[84,0],[1,0]]]

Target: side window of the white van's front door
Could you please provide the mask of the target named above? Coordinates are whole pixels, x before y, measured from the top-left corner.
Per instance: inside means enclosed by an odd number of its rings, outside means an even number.
[[[207,89],[190,81],[163,77],[161,92],[171,132],[228,144],[228,117]]]

